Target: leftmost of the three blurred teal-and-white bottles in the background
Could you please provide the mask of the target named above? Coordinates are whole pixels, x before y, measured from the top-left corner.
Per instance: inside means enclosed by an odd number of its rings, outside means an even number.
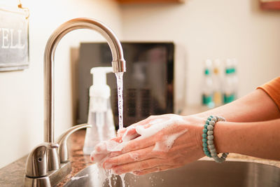
[[[212,61],[205,60],[204,79],[202,87],[202,104],[209,108],[213,108],[215,106],[213,102],[214,84],[211,77],[211,67]]]

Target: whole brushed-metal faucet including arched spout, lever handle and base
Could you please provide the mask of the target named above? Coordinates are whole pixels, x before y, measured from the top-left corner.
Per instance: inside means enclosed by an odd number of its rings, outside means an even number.
[[[113,72],[125,72],[123,48],[116,35],[102,22],[90,18],[76,18],[60,25],[52,33],[45,46],[44,84],[45,84],[45,142],[34,148],[27,157],[25,186],[55,186],[66,174],[71,172],[66,140],[70,134],[91,125],[82,124],[71,127],[57,141],[54,139],[54,60],[55,49],[62,37],[75,29],[92,29],[104,36],[111,48]]]

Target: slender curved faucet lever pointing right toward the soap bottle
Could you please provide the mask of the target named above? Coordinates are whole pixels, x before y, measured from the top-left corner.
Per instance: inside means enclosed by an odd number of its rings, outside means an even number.
[[[86,128],[86,127],[92,127],[92,125],[90,124],[81,124],[81,125],[75,125],[71,128],[69,128],[68,130],[66,130],[66,132],[64,132],[62,135],[60,135],[60,137],[57,139],[57,144],[58,146],[58,154],[59,154],[59,159],[60,162],[67,162],[69,160],[69,153],[67,150],[67,139],[68,137],[73,133],[76,132],[77,130]]]

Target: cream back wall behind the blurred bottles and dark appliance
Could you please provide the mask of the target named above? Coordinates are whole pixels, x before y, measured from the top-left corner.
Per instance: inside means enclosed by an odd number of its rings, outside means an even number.
[[[121,11],[125,40],[183,46],[188,104],[200,104],[206,58],[237,58],[239,96],[280,75],[280,12],[260,11],[257,0],[132,4],[121,6]]]

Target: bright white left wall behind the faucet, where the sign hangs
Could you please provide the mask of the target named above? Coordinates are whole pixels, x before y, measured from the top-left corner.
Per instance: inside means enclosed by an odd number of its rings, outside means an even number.
[[[1,4],[17,6],[16,0]],[[121,36],[118,4],[113,0],[22,0],[30,10],[30,67],[0,72],[0,168],[21,158],[43,142],[43,53],[50,34],[72,18],[90,17]],[[100,41],[92,31],[64,36],[55,55],[55,137],[73,125],[70,47],[80,41]]]

